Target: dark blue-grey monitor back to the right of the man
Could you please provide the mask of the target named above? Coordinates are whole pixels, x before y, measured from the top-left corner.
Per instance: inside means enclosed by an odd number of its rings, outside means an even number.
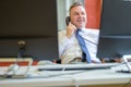
[[[131,0],[103,0],[98,58],[131,54]]]

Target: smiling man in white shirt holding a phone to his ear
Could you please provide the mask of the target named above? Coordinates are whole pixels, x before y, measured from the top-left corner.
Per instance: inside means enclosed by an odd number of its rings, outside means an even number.
[[[90,63],[100,63],[100,60],[96,58],[97,52],[97,40],[99,30],[87,29],[85,25],[87,23],[87,16],[83,4],[75,2],[70,7],[70,23],[67,26],[67,30],[62,32],[63,38],[59,39],[59,54],[62,64],[75,62],[78,59],[82,61],[83,50],[80,46],[80,41],[76,38],[76,32],[81,29],[81,36],[84,39],[85,46],[90,52]],[[61,37],[59,35],[59,37]],[[86,62],[86,61],[84,61]]]

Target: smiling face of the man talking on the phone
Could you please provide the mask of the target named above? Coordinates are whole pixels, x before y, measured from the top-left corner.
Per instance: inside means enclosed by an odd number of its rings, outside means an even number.
[[[87,23],[85,9],[82,5],[74,7],[70,10],[71,23],[76,26],[76,28],[85,27]]]

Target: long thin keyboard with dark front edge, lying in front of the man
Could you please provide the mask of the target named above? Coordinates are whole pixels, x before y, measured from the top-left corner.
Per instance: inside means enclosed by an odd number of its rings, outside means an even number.
[[[43,65],[38,71],[74,71],[74,70],[102,70],[116,66],[118,63],[100,63],[100,64],[56,64],[56,65]]]

